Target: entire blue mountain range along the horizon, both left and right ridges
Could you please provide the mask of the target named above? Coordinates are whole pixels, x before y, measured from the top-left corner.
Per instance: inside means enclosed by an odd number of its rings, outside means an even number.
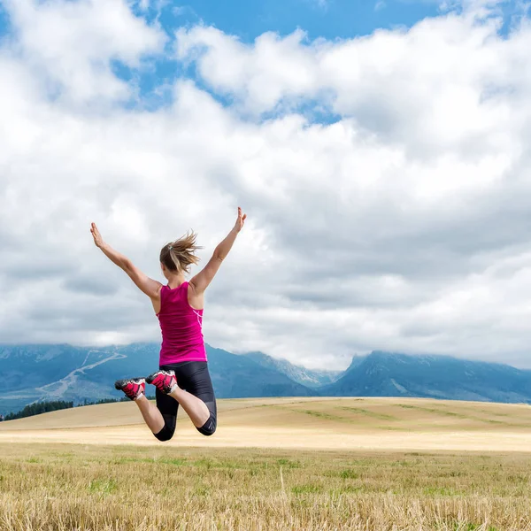
[[[0,345],[0,414],[39,400],[118,398],[113,382],[157,369],[158,343],[99,348]],[[312,371],[261,352],[207,345],[216,396],[420,396],[531,403],[531,371],[445,356],[373,351],[343,372]]]

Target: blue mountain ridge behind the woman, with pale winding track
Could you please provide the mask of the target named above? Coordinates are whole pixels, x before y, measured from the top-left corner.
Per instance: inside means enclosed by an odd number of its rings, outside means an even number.
[[[212,384],[219,398],[315,396],[286,374],[207,345]],[[113,383],[158,368],[158,343],[82,348],[71,345],[0,345],[0,414],[39,400],[79,403],[119,397]]]

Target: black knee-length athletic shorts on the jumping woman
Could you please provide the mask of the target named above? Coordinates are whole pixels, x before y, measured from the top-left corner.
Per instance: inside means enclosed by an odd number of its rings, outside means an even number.
[[[204,426],[197,427],[197,430],[203,435],[212,435],[217,427],[217,408],[206,361],[183,361],[160,366],[159,368],[164,371],[174,371],[179,387],[203,400],[210,412],[210,418],[204,423]],[[156,398],[158,411],[162,413],[165,427],[155,436],[159,441],[169,441],[175,432],[179,403],[173,396],[165,395],[158,389]]]

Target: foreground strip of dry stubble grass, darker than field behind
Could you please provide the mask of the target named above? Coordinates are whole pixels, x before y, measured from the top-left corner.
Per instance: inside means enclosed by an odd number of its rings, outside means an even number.
[[[525,531],[530,457],[0,444],[0,529]]]

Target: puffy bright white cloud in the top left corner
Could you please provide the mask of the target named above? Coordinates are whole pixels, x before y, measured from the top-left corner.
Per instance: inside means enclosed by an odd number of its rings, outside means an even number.
[[[130,97],[133,90],[114,75],[112,61],[137,67],[165,41],[124,0],[4,0],[4,6],[16,35],[14,54],[35,71],[41,90],[76,104]]]

